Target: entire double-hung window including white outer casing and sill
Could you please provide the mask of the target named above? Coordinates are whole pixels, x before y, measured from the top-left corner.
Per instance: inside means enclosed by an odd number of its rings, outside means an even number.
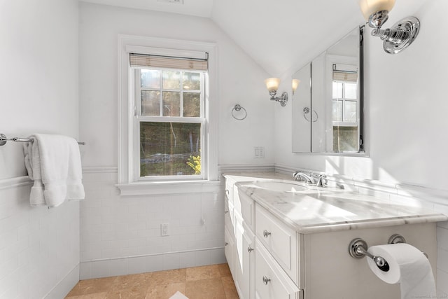
[[[119,51],[121,195],[214,190],[216,45],[119,36]]]

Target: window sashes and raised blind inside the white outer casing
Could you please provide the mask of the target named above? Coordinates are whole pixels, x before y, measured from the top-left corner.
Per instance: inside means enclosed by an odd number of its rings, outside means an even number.
[[[131,53],[130,65],[134,177],[203,179],[207,59]]]

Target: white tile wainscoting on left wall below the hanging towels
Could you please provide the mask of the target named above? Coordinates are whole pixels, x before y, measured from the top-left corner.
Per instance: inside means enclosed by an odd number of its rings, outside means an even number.
[[[30,207],[28,176],[0,180],[0,298],[64,298],[79,280],[79,206]]]

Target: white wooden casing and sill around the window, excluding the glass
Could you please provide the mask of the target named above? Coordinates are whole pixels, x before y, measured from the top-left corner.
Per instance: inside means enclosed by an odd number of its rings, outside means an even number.
[[[134,133],[135,89],[131,85],[132,69],[130,53],[165,55],[173,57],[201,58],[208,53],[208,80],[204,88],[204,118],[202,126],[206,140],[202,142],[202,159],[207,159],[204,175],[197,179],[162,178],[158,180],[139,180],[135,175],[136,160]],[[217,92],[217,47],[214,43],[160,39],[146,36],[118,36],[118,184],[121,195],[143,195],[160,193],[160,186],[176,186],[168,193],[185,193],[186,190],[207,189],[218,186],[218,92]],[[131,100],[132,99],[132,100]],[[178,122],[178,120],[176,120]],[[151,187],[152,186],[152,187]]]

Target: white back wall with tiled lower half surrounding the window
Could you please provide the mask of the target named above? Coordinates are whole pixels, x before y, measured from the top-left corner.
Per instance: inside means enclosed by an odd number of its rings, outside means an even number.
[[[87,142],[81,278],[223,262],[222,194],[118,195],[118,34],[216,43],[218,98],[211,101],[219,102],[221,165],[274,163],[276,103],[267,74],[207,18],[80,2],[79,22],[80,138]],[[231,116],[237,103],[248,112],[244,121]],[[265,159],[253,158],[254,146],[265,147]],[[161,223],[170,223],[169,237],[160,237]]]

